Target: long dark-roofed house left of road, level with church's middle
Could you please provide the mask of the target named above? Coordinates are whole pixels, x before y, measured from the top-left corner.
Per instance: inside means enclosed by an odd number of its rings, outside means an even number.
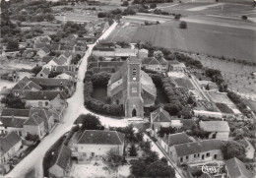
[[[31,78],[30,80],[44,90],[64,91],[67,96],[72,95],[75,91],[75,81],[73,80],[56,78]]]

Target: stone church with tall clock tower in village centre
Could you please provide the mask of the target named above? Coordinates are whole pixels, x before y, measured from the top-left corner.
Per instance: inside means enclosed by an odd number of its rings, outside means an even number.
[[[112,104],[123,104],[125,117],[143,117],[144,107],[155,105],[157,89],[151,77],[141,70],[140,60],[129,58],[112,74],[107,96]]]

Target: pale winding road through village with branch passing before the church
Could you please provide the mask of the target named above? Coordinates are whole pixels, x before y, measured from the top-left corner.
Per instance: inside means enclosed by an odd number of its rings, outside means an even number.
[[[114,30],[117,26],[117,23],[114,23],[108,30],[106,30],[99,38],[103,39],[107,37],[112,30]],[[98,41],[97,40],[97,41]],[[96,41],[96,42],[97,42]],[[77,88],[75,93],[71,98],[69,98],[68,101],[68,108],[66,110],[66,114],[63,118],[63,121],[58,124],[58,126],[55,128],[55,130],[46,136],[41,143],[32,150],[32,152],[26,156],[16,167],[8,173],[5,177],[8,178],[20,178],[24,177],[27,172],[29,172],[32,168],[35,168],[35,177],[40,178],[43,177],[42,173],[42,159],[46,151],[66,132],[70,131],[72,128],[72,125],[76,118],[81,113],[87,113],[89,112],[84,107],[84,77],[85,73],[87,71],[87,64],[88,64],[88,57],[91,55],[93,47],[96,45],[96,43],[89,46],[89,49],[87,50],[85,56],[81,60],[81,64],[78,71],[78,82],[77,82]],[[100,121],[102,120],[103,124],[120,124],[120,126],[125,126],[128,124],[127,120],[123,121],[117,121],[113,122],[114,119],[108,118],[108,117],[102,117],[98,116]]]

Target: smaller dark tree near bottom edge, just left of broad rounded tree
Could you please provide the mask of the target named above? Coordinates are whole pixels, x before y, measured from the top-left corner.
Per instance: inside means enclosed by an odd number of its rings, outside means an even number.
[[[143,177],[146,171],[147,164],[143,159],[139,158],[138,160],[131,160],[131,173],[135,177]]]

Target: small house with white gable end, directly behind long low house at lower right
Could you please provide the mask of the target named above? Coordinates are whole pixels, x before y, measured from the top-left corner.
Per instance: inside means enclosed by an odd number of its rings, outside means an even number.
[[[170,134],[167,136],[164,135],[164,137],[159,138],[158,141],[160,142],[161,148],[163,148],[167,153],[169,152],[170,147],[192,142],[185,133]]]

